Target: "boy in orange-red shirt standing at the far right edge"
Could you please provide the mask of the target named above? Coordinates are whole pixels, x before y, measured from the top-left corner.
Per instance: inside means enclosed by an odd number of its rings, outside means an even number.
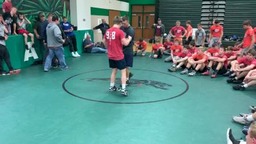
[[[246,29],[246,32],[244,34],[243,42],[239,45],[239,47],[243,45],[243,51],[241,52],[242,55],[248,52],[250,49],[253,49],[255,44],[255,33],[252,29],[251,21],[244,20],[243,28]]]

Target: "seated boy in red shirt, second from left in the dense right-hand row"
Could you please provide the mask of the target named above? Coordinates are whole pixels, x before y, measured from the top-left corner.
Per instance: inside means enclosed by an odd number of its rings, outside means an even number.
[[[184,45],[183,51],[175,57],[172,67],[168,69],[170,72],[175,72],[179,70],[182,66],[188,64],[188,58],[192,56],[192,54],[189,52],[189,49],[190,48],[188,45]]]

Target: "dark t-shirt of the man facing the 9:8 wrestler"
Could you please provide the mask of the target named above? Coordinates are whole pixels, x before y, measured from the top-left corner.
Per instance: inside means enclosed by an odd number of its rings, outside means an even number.
[[[124,31],[125,38],[128,38],[128,36],[132,37],[132,40],[129,45],[123,46],[123,52],[124,54],[133,54],[133,39],[134,39],[134,29],[132,26],[129,26],[128,28],[124,28],[121,26],[120,28],[122,31]]]

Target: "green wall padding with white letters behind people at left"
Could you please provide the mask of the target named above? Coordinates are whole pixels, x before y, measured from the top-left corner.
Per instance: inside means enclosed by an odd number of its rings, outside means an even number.
[[[83,31],[74,31],[76,34],[76,40],[77,40],[77,49],[78,52],[81,53],[83,51],[83,38],[84,33],[90,33],[93,38],[93,31],[92,30],[83,30]],[[92,39],[93,40],[93,39]],[[29,40],[30,41],[30,40]],[[6,40],[6,47],[10,53],[11,63],[14,68],[25,68],[29,67],[32,63],[34,63],[37,60],[42,60],[42,49],[40,48],[39,41],[35,38],[35,51],[38,55],[38,59],[34,60],[33,57],[29,58],[29,61],[24,61],[24,54],[25,54],[25,43],[24,43],[24,37],[22,35],[11,35],[8,37],[8,40]],[[65,47],[65,57],[71,57],[71,53],[69,51],[69,47]],[[4,63],[4,69],[7,70],[7,67]]]

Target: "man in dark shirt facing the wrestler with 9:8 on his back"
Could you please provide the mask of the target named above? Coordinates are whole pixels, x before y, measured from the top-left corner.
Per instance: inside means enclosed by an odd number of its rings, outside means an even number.
[[[126,68],[126,85],[129,84],[129,79],[132,77],[132,73],[129,71],[129,67],[132,67],[133,64],[133,39],[134,39],[134,29],[129,24],[129,17],[123,17],[123,26],[120,28],[124,31],[125,38],[131,36],[132,40],[129,45],[123,46],[124,58],[127,65]]]

